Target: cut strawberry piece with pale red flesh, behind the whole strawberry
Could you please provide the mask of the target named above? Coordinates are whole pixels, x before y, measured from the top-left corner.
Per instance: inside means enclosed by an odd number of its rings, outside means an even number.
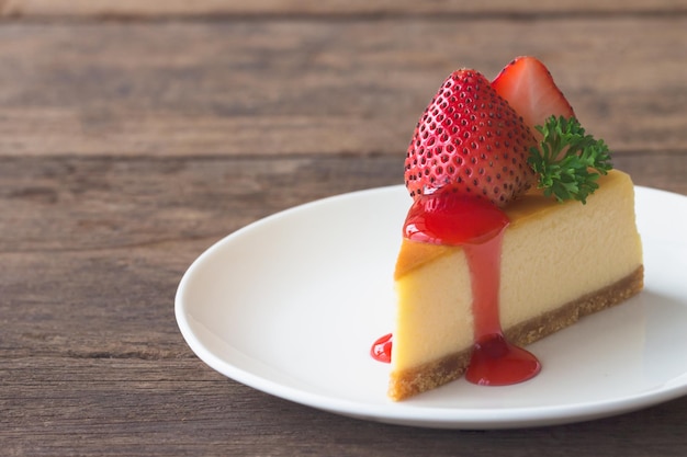
[[[500,70],[492,87],[522,116],[538,138],[534,127],[544,125],[550,116],[575,116],[547,67],[534,57],[514,59]]]

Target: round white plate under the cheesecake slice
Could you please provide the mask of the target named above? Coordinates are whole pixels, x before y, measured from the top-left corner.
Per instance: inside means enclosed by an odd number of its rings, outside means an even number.
[[[687,197],[638,187],[645,289],[529,349],[544,369],[509,387],[458,380],[386,398],[368,354],[392,331],[403,186],[299,206],[224,238],[185,273],[176,316],[190,347],[256,389],[348,416],[443,429],[552,425],[687,393]],[[612,228],[609,228],[612,229]]]

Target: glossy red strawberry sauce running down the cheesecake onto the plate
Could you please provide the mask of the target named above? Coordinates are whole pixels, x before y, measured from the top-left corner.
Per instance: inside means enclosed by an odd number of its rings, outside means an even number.
[[[465,379],[481,386],[506,386],[536,376],[541,365],[529,352],[509,343],[498,311],[500,249],[509,220],[495,205],[441,193],[417,198],[408,212],[404,236],[413,241],[462,245],[471,273],[474,339]],[[391,362],[392,335],[372,346],[373,357]]]

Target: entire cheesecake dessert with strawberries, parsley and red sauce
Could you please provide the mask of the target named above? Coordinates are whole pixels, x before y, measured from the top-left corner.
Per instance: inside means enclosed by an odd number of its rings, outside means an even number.
[[[396,328],[372,347],[403,400],[461,376],[536,376],[522,346],[643,287],[630,176],[550,72],[519,57],[488,81],[454,71],[405,160],[413,202],[394,274]]]

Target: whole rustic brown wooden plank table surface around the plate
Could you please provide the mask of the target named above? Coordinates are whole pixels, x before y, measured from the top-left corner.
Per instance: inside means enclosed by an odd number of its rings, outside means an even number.
[[[0,454],[685,455],[687,398],[534,430],[383,425],[227,379],[178,330],[177,285],[225,235],[402,183],[458,67],[539,56],[617,168],[687,194],[687,3],[483,3],[1,1]]]

